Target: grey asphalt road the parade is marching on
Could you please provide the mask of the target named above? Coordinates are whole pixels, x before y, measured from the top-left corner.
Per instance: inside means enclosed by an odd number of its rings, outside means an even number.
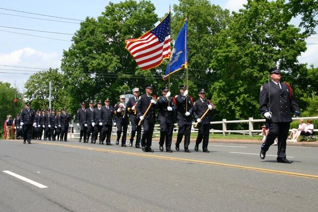
[[[276,146],[265,160],[253,144],[153,148],[2,140],[0,211],[317,211],[318,148],[288,146],[292,164],[276,162]]]

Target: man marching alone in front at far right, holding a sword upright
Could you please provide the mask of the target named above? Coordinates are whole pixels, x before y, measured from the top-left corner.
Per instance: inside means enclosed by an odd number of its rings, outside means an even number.
[[[299,107],[292,93],[292,89],[286,83],[281,83],[281,75],[278,67],[269,70],[271,81],[260,87],[259,110],[270,123],[266,140],[261,146],[259,156],[265,158],[269,146],[278,139],[277,162],[291,163],[286,159],[286,139],[290,123],[292,122],[292,111],[299,117]]]

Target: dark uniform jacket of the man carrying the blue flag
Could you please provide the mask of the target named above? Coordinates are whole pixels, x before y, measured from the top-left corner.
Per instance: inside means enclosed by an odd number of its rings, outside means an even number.
[[[177,121],[179,124],[192,124],[192,114],[193,114],[193,102],[190,96],[185,98],[181,93],[175,97],[177,102]],[[186,107],[187,101],[187,107]],[[187,110],[186,110],[187,108]],[[189,112],[190,116],[185,116],[185,113]]]

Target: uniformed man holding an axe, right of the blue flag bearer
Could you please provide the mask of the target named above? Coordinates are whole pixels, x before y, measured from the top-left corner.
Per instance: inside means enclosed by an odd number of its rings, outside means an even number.
[[[199,89],[199,99],[193,103],[193,116],[194,119],[198,122],[198,136],[195,142],[194,150],[199,150],[199,144],[203,139],[202,149],[203,152],[209,152],[208,144],[209,144],[209,132],[210,132],[210,115],[209,112],[202,119],[201,117],[207,110],[212,110],[213,106],[210,101],[205,99],[205,91],[204,89]]]

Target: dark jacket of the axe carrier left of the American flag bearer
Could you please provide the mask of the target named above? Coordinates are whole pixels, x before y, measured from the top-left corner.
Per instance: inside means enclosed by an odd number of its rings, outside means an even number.
[[[137,116],[138,117],[144,116],[144,114],[145,114],[145,112],[150,104],[150,101],[152,99],[153,99],[153,96],[148,97],[146,93],[141,96],[140,100],[137,103]],[[155,113],[156,107],[157,107],[157,104],[155,104],[155,105],[152,104],[147,115],[144,116],[144,118],[146,120],[148,120],[148,122],[151,122],[151,123],[156,122],[156,113]]]

